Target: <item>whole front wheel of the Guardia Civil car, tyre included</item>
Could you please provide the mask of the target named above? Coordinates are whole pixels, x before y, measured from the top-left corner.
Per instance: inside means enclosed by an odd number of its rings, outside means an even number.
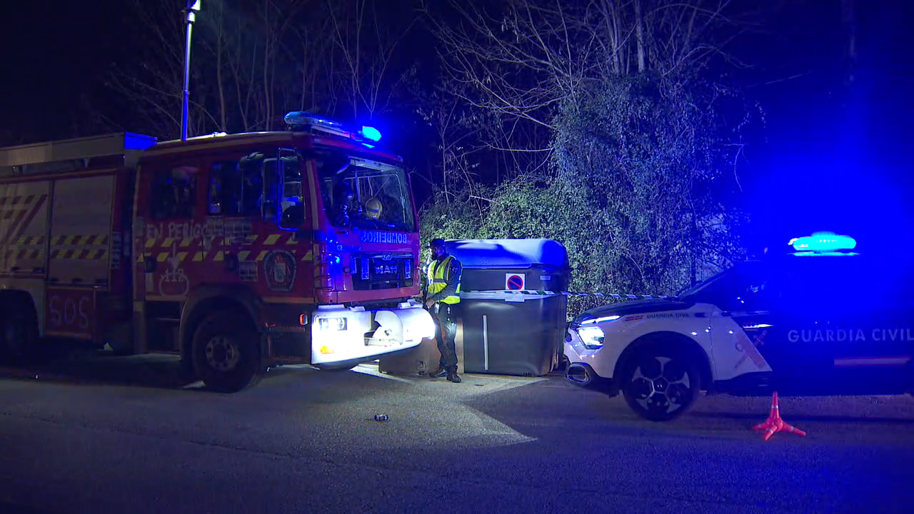
[[[620,383],[632,411],[653,422],[671,421],[698,397],[700,373],[694,359],[674,348],[644,348],[629,359]]]

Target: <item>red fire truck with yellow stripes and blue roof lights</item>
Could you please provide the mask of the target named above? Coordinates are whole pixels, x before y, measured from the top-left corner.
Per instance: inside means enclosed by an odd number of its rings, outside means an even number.
[[[0,355],[46,337],[180,354],[216,391],[433,337],[401,159],[371,127],[0,149]]]

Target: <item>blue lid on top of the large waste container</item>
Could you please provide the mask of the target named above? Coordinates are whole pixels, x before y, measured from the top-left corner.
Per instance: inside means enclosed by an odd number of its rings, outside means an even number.
[[[548,265],[567,268],[568,252],[547,239],[476,239],[445,241],[448,252],[464,268],[528,268]]]

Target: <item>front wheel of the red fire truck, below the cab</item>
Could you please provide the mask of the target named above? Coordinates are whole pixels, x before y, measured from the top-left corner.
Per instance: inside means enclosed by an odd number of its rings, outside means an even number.
[[[263,374],[257,331],[246,316],[207,316],[194,333],[194,368],[213,391],[238,392]]]

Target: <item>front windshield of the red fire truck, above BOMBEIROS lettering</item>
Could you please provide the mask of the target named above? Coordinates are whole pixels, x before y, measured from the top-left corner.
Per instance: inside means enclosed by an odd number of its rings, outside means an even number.
[[[324,209],[336,227],[416,230],[401,166],[329,150],[316,158]]]

